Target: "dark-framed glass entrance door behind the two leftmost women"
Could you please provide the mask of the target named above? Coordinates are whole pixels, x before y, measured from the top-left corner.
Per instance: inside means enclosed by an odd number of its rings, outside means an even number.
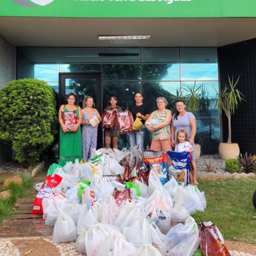
[[[66,96],[73,92],[76,95],[75,105],[83,108],[87,96],[93,98],[94,107],[102,114],[102,75],[100,72],[59,73],[59,107],[66,104]],[[103,147],[103,133],[98,126],[97,148]]]

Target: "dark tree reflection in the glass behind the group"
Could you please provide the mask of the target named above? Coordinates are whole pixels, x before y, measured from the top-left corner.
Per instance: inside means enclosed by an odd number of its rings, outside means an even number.
[[[171,99],[171,93],[163,89],[161,82],[143,82],[141,81],[140,64],[104,64],[103,65],[103,108],[107,107],[108,100],[112,95],[117,96],[118,105],[126,101],[128,107],[134,104],[135,93],[142,90],[144,103],[152,110],[156,109],[156,98],[165,97],[168,102]],[[142,67],[143,81],[161,81],[168,75],[168,68],[171,64],[144,64]],[[70,64],[68,69],[71,72],[88,72],[89,70],[100,70],[99,64]],[[132,81],[132,82],[119,82]],[[79,83],[77,79],[70,80],[69,88],[74,89],[75,93],[91,96],[96,99],[95,84],[83,80]]]

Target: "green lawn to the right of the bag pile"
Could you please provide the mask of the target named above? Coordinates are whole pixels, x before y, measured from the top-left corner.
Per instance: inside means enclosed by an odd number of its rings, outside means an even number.
[[[256,244],[256,209],[253,193],[256,177],[199,179],[198,188],[205,192],[207,207],[196,212],[196,222],[212,221],[224,239]]]

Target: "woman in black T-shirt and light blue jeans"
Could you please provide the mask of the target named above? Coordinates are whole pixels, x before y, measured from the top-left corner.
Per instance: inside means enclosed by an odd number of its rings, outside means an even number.
[[[143,124],[142,129],[135,130],[135,133],[129,132],[130,146],[136,145],[139,146],[139,151],[142,153],[144,151],[144,137],[145,137],[145,121],[149,118],[150,110],[149,107],[142,103],[143,95],[141,92],[135,94],[136,104],[133,104],[129,107],[129,111],[132,114],[133,121],[136,117],[141,119]]]

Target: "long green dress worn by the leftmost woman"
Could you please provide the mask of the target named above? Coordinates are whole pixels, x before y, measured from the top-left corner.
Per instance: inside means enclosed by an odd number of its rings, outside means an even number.
[[[64,111],[69,111],[67,108]],[[77,117],[79,118],[79,110],[76,109]],[[81,127],[79,126],[78,132],[63,132],[60,130],[60,158],[59,165],[64,166],[66,162],[75,163],[78,159],[79,162],[83,158],[82,153],[82,138]]]

